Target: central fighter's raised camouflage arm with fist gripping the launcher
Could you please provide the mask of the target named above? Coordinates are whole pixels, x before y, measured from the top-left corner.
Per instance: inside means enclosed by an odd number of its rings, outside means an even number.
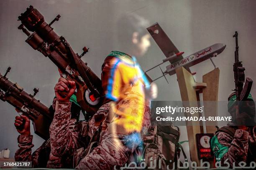
[[[73,154],[77,148],[78,135],[76,119],[71,119],[71,102],[69,98],[74,94],[76,85],[74,81],[59,78],[55,85],[56,100],[54,100],[54,119],[50,126],[51,152],[56,157],[64,154]],[[63,92],[67,94],[63,95]]]

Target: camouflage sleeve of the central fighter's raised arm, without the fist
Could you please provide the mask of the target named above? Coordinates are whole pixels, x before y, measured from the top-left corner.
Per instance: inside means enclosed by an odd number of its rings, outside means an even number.
[[[77,120],[71,119],[71,102],[55,103],[54,119],[50,125],[51,152],[56,157],[72,154],[78,148]]]

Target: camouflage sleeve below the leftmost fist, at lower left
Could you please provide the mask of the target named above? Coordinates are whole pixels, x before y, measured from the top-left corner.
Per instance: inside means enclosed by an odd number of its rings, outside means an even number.
[[[31,148],[33,135],[19,135],[18,147],[19,149],[15,153],[15,161],[32,161]]]

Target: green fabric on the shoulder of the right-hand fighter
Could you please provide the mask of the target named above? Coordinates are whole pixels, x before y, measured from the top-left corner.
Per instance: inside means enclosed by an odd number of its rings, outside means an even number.
[[[211,139],[211,149],[216,160],[221,160],[223,155],[228,152],[228,147],[221,145],[216,135]]]

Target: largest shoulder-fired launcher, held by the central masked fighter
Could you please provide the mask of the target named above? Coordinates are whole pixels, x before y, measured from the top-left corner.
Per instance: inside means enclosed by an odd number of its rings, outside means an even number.
[[[64,37],[60,37],[54,32],[51,25],[58,21],[57,15],[51,23],[46,23],[44,16],[33,6],[27,8],[18,20],[22,30],[27,36],[26,42],[34,49],[54,62],[54,64],[64,72],[64,78],[74,80],[77,86],[77,102],[89,114],[93,114],[100,107],[104,97],[102,97],[101,80],[81,60],[81,57],[88,52],[87,47],[83,48],[83,53],[78,55],[70,47]],[[30,33],[26,28],[31,32]]]

